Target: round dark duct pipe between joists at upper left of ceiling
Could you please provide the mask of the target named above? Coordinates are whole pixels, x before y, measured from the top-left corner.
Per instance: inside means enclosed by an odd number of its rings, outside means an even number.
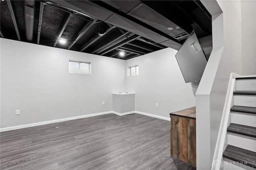
[[[25,17],[26,38],[28,41],[32,41],[33,30],[34,30],[34,17],[35,17],[35,1],[34,0],[24,1],[24,17]]]

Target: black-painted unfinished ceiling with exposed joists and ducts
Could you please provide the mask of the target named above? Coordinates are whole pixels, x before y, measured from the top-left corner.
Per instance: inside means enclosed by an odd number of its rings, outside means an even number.
[[[212,35],[197,0],[1,0],[0,10],[2,38],[120,59]]]

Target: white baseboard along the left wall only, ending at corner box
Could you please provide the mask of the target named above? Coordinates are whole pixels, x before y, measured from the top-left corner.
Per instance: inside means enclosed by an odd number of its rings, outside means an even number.
[[[20,128],[35,127],[35,126],[46,125],[46,124],[50,124],[50,123],[70,121],[70,120],[81,119],[81,118],[86,118],[86,117],[106,115],[106,114],[109,114],[109,113],[113,113],[113,112],[112,111],[108,111],[108,112],[102,112],[102,113],[94,113],[94,114],[90,114],[90,115],[68,117],[68,118],[64,118],[64,119],[56,119],[56,120],[52,120],[52,121],[44,121],[44,122],[38,122],[38,123],[31,123],[31,124],[27,124],[27,125],[19,125],[19,126],[14,126],[14,127],[0,128],[0,132],[5,132],[5,131],[9,131],[9,130],[16,130],[16,129],[20,129]]]

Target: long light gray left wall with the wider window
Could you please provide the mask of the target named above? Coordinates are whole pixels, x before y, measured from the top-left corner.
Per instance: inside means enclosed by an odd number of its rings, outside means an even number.
[[[112,111],[112,93],[125,91],[121,59],[3,38],[0,55],[1,128]],[[92,74],[68,73],[69,59]]]

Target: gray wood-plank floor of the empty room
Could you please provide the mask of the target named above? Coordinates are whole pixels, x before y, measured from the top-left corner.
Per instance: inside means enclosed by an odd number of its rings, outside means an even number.
[[[195,170],[170,156],[170,122],[114,114],[1,132],[1,170]]]

